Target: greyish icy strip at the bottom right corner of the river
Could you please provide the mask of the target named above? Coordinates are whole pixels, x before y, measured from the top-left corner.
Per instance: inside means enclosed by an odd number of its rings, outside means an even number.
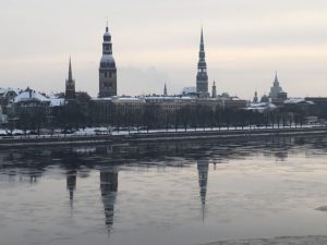
[[[326,245],[327,236],[284,236],[275,238],[222,241],[205,245]]]

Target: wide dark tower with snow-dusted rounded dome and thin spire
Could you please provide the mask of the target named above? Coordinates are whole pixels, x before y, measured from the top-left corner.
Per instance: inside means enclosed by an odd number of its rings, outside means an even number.
[[[104,34],[102,57],[99,68],[99,98],[117,96],[117,69],[108,24]]]

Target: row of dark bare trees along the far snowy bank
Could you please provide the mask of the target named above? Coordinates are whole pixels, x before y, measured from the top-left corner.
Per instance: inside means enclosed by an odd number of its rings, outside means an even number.
[[[29,110],[19,110],[11,115],[8,127],[19,128],[24,132],[35,131],[37,134],[43,128],[52,131],[56,128],[62,132],[73,130],[111,126],[116,131],[121,130],[195,130],[227,127],[264,128],[286,127],[289,125],[302,126],[308,115],[320,114],[326,117],[326,109],[302,107],[281,107],[264,112],[246,109],[222,109],[206,105],[185,105],[178,110],[164,110],[158,103],[145,103],[133,110],[122,110],[114,103],[99,106],[92,100],[87,94],[80,94],[73,101],[61,107],[35,107]]]

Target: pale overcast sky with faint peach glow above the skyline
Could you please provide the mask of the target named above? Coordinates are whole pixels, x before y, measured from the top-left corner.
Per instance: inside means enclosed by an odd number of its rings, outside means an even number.
[[[2,0],[0,86],[98,93],[108,19],[118,94],[195,86],[201,26],[209,87],[243,99],[268,94],[275,72],[290,97],[327,96],[325,0]]]

